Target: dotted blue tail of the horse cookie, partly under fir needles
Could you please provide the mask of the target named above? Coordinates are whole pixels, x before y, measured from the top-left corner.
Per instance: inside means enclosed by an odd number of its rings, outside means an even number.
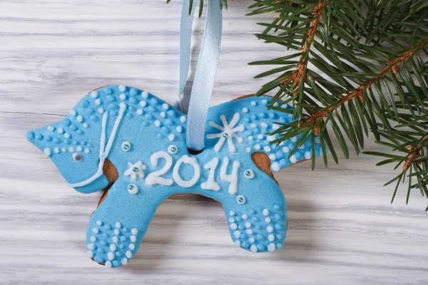
[[[271,162],[270,170],[276,172],[288,165],[310,160],[312,158],[312,140],[306,140],[292,155],[290,153],[301,135],[284,140],[280,144],[272,143],[280,138],[280,134],[272,133],[280,128],[281,124],[291,123],[293,118],[290,113],[267,108],[271,101],[271,97],[247,95],[230,102],[230,107],[239,110],[240,120],[245,125],[242,135],[243,149],[253,155],[257,152],[264,152]],[[282,105],[282,108],[292,110],[287,105]],[[320,138],[315,136],[315,157],[321,155]]]

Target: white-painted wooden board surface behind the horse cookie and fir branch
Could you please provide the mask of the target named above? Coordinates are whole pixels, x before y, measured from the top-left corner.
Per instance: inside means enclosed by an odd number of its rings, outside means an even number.
[[[415,191],[389,204],[389,167],[352,155],[311,172],[277,173],[287,198],[285,249],[235,247],[223,209],[176,197],[158,209],[136,257],[106,269],[86,257],[86,224],[101,193],[66,186],[25,132],[61,119],[88,91],[123,83],[173,103],[180,0],[0,1],[0,284],[427,284],[428,214]],[[263,68],[285,55],[252,35],[268,17],[230,2],[212,104],[254,93]],[[194,53],[203,21],[195,22]],[[379,150],[367,143],[367,150]],[[318,165],[322,160],[317,161]]]

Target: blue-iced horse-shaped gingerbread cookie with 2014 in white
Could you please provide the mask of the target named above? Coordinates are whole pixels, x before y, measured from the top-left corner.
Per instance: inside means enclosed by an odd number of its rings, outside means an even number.
[[[78,192],[96,192],[109,184],[102,172],[106,158],[118,170],[118,180],[86,232],[87,254],[96,262],[127,264],[158,206],[185,192],[223,204],[235,244],[251,252],[272,252],[285,240],[285,198],[251,154],[265,152],[271,170],[277,171],[310,159],[312,152],[311,142],[306,142],[288,159],[299,136],[277,146],[270,143],[277,137],[269,133],[291,120],[288,114],[267,110],[270,100],[243,98],[210,108],[205,149],[199,155],[190,155],[185,145],[186,115],[151,93],[126,86],[89,93],[66,118],[26,137]],[[319,138],[315,145],[316,155],[321,155]]]

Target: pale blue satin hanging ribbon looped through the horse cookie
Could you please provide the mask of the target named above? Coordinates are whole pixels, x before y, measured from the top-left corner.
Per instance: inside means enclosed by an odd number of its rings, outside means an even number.
[[[183,0],[181,11],[180,31],[180,83],[178,98],[174,106],[183,110],[181,93],[188,78],[190,65],[190,37],[193,22],[193,9],[188,16],[189,0]],[[186,144],[190,150],[203,150],[205,147],[205,122],[207,120],[210,99],[213,93],[215,73],[217,72],[218,58],[220,56],[220,43],[223,15],[219,0],[208,0],[207,21],[203,41],[200,48],[198,66],[196,66],[193,89],[190,94],[188,110]]]

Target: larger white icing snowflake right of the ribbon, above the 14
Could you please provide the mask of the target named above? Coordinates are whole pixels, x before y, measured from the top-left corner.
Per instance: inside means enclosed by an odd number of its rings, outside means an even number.
[[[223,143],[225,142],[226,139],[228,139],[228,147],[230,152],[236,151],[236,147],[233,144],[233,138],[235,138],[235,140],[237,140],[238,142],[243,142],[243,138],[235,134],[237,132],[243,132],[245,130],[244,125],[238,125],[238,127],[234,128],[235,125],[238,123],[239,119],[240,119],[239,113],[235,113],[230,123],[228,123],[228,121],[226,120],[225,115],[220,115],[220,120],[223,123],[223,127],[220,125],[217,125],[214,122],[210,122],[211,127],[221,131],[221,133],[207,135],[207,138],[210,138],[210,139],[219,138],[218,142],[214,146],[215,152],[218,152],[220,150],[220,148],[223,146]]]

